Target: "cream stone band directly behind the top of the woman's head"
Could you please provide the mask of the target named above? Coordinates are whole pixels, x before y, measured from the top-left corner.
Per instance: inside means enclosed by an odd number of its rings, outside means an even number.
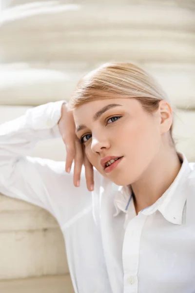
[[[99,63],[100,64],[100,63]],[[69,100],[79,79],[93,64],[12,63],[0,65],[0,105],[40,105]],[[161,84],[173,105],[195,108],[195,63],[141,63]],[[183,98],[185,96],[185,99]]]

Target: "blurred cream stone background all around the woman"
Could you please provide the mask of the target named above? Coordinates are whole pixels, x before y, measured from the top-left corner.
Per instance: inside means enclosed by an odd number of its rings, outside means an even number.
[[[0,0],[0,124],[68,101],[80,77],[109,61],[136,62],[157,79],[177,149],[195,162],[195,0]],[[65,146],[41,141],[31,155],[63,161]],[[0,292],[73,292],[56,220],[4,195]]]

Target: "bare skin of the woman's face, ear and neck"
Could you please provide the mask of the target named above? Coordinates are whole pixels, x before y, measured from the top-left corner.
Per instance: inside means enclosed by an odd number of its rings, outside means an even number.
[[[110,108],[94,121],[95,113],[110,104],[120,106]],[[111,118],[113,115],[121,117]],[[176,149],[170,145],[173,113],[168,102],[160,101],[156,112],[149,114],[136,99],[99,100],[74,110],[73,119],[75,127],[86,126],[77,132],[77,138],[84,136],[87,182],[92,181],[89,173],[94,166],[115,184],[131,185],[137,213],[154,204],[175,180],[181,163]],[[123,156],[110,173],[105,173],[100,164],[107,155]]]

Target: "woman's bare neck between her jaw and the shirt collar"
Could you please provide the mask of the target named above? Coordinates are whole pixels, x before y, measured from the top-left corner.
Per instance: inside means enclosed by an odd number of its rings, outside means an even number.
[[[181,163],[175,149],[158,153],[139,179],[131,184],[136,213],[153,205],[174,182]]]

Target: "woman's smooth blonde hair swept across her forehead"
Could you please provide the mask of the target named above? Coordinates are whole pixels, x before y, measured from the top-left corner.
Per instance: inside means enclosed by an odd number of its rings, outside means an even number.
[[[151,114],[157,110],[161,100],[170,103],[166,93],[148,72],[135,63],[112,62],[100,65],[78,82],[69,108],[74,110],[92,101],[113,98],[135,98],[143,110]],[[170,135],[175,145],[172,129],[173,124]]]

